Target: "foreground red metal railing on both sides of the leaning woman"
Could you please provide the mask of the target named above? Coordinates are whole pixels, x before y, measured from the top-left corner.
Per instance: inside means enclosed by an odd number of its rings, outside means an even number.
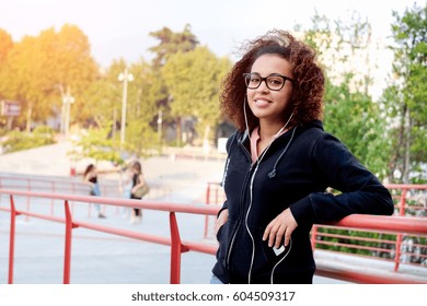
[[[217,247],[212,245],[206,245],[195,242],[182,242],[176,222],[176,213],[193,213],[204,215],[216,215],[218,212],[218,205],[200,207],[189,204],[177,204],[166,202],[153,202],[153,201],[135,201],[135,200],[119,200],[102,197],[88,197],[76,195],[56,195],[46,192],[30,192],[21,190],[8,190],[0,189],[0,195],[8,195],[10,198],[10,209],[0,208],[0,211],[10,212],[11,225],[10,225],[10,251],[9,251],[9,283],[13,283],[13,266],[14,266],[14,243],[15,243],[15,217],[23,214],[33,217],[38,217],[47,221],[59,222],[66,225],[65,235],[65,257],[64,257],[64,283],[70,283],[70,267],[71,267],[71,243],[72,243],[72,229],[77,227],[84,227],[88,229],[99,231],[103,233],[109,233],[124,237],[135,238],[139,240],[150,242],[160,245],[166,245],[171,247],[171,275],[170,282],[173,284],[180,283],[181,279],[181,255],[186,251],[198,251],[215,255]],[[45,199],[61,200],[65,204],[65,217],[56,217],[51,215],[44,215],[35,212],[16,210],[14,203],[14,196],[35,197]],[[170,213],[170,237],[154,236],[150,234],[137,233],[122,228],[114,228],[102,226],[97,224],[84,223],[73,220],[70,213],[69,201],[82,202],[82,203],[102,203],[114,207],[128,207],[128,208],[141,208],[148,210],[166,211]],[[391,233],[408,233],[414,235],[427,235],[427,222],[426,219],[419,217],[403,217],[403,216],[373,216],[373,215],[350,215],[343,219],[339,222],[334,223],[335,226],[346,226],[351,228],[369,228],[376,231],[388,231]],[[333,266],[318,266],[316,273],[319,275],[342,279],[353,282],[361,283],[427,283],[427,280],[419,281],[415,279],[408,279],[399,274],[394,275],[379,275],[372,273],[366,273],[363,271],[349,271],[339,270]]]

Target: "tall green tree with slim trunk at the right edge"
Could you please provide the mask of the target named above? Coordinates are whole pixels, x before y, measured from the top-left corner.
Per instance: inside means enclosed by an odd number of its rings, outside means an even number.
[[[403,16],[393,12],[393,75],[384,91],[390,118],[390,176],[404,184],[426,181],[427,163],[427,5],[414,4]],[[395,174],[400,175],[396,177]],[[394,176],[393,176],[394,175]],[[412,181],[413,180],[413,181]]]

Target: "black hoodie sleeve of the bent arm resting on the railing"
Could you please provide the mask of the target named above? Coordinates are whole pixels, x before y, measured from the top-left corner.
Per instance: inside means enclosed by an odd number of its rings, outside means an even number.
[[[311,160],[319,179],[341,193],[314,192],[291,204],[298,224],[337,221],[353,213],[393,214],[389,190],[339,140],[323,133],[312,146]]]

